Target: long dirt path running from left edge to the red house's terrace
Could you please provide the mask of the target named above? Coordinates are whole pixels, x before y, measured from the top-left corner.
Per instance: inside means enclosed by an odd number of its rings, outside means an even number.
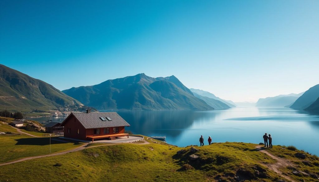
[[[66,150],[66,151],[63,151],[63,152],[58,152],[58,153],[54,153],[54,154],[48,154],[48,155],[43,155],[43,156],[34,156],[34,157],[26,157],[26,158],[23,158],[23,159],[19,159],[19,160],[16,160],[16,161],[11,161],[11,162],[7,162],[7,163],[2,163],[0,164],[0,166],[3,166],[3,165],[8,165],[8,164],[14,164],[14,163],[19,163],[19,162],[22,162],[22,161],[26,161],[26,160],[31,160],[31,159],[37,159],[37,158],[43,158],[43,157],[51,157],[51,156],[57,156],[57,155],[63,155],[63,154],[67,154],[67,153],[70,153],[70,152],[76,152],[76,151],[80,151],[80,150],[83,150],[83,149],[89,149],[89,148],[93,148],[93,147],[100,147],[100,146],[106,146],[106,145],[118,145],[118,144],[122,144],[122,143],[111,143],[111,144],[105,144],[105,145],[97,145],[97,146],[89,146],[87,147],[89,143],[85,143],[83,145],[81,145],[80,147],[78,148],[75,148],[75,149],[71,149],[71,150]],[[135,143],[132,143],[132,144],[135,144]],[[149,142],[147,141],[144,141],[144,143],[136,143],[138,145],[145,145],[145,144],[149,144]]]

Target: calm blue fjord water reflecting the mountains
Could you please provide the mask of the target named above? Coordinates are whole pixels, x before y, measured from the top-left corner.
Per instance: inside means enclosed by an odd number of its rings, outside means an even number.
[[[319,115],[290,108],[236,107],[215,111],[118,111],[134,134],[166,136],[177,146],[199,145],[200,135],[213,142],[263,142],[264,133],[273,144],[294,145],[319,155]],[[40,120],[39,120],[40,119]],[[37,118],[41,121],[44,118]],[[44,119],[48,120],[48,119]],[[61,120],[61,118],[59,119]],[[63,120],[63,119],[62,119]]]

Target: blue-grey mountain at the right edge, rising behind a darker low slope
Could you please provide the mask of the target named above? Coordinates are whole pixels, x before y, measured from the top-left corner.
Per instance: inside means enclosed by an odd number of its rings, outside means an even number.
[[[319,84],[311,87],[308,91],[305,91],[290,108],[297,110],[304,110],[312,105],[319,98]]]

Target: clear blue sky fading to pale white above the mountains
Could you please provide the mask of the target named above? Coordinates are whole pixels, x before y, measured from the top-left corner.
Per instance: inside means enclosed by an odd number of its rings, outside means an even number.
[[[0,63],[60,90],[145,73],[233,101],[319,84],[319,1],[0,1]]]

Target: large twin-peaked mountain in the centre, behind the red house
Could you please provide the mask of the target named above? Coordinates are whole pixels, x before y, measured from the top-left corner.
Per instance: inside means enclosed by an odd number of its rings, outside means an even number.
[[[153,78],[141,73],[63,92],[99,110],[213,109],[175,76]]]

